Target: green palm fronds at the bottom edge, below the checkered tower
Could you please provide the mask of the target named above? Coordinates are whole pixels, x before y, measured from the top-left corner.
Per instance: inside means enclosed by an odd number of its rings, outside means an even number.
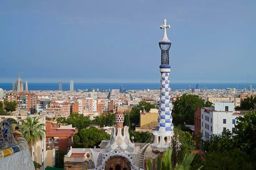
[[[163,153],[162,160],[160,159],[160,155],[157,157],[157,170],[189,170],[190,164],[195,158],[195,154],[186,154],[183,161],[177,163],[175,167],[172,167],[172,149],[169,147]],[[153,170],[153,160],[149,159],[147,162],[147,170]],[[199,167],[200,170],[203,166]]]

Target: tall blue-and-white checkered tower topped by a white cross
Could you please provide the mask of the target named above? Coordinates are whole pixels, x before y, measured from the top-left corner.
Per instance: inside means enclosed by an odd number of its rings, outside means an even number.
[[[161,86],[160,86],[160,108],[158,110],[157,129],[152,132],[151,147],[154,152],[163,152],[169,147],[170,140],[174,134],[172,124],[172,109],[170,108],[170,85],[169,85],[169,73],[171,66],[169,65],[169,49],[171,48],[171,41],[168,40],[166,29],[170,28],[170,25],[166,25],[166,19],[164,25],[160,26],[164,29],[163,38],[159,42],[161,49]]]

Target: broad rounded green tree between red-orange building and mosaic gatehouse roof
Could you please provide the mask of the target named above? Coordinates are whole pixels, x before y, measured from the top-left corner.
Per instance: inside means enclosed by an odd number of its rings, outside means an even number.
[[[99,147],[101,141],[105,139],[110,139],[110,135],[105,133],[103,130],[99,130],[95,127],[90,127],[89,129],[82,129],[75,134],[73,141],[74,146],[77,148],[92,148],[94,146]]]

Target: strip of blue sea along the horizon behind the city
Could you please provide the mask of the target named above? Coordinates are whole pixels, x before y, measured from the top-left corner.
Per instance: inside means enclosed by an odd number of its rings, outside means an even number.
[[[247,83],[237,83],[238,89],[247,88]],[[75,83],[74,82],[74,90],[85,90],[99,88],[99,91],[105,91],[108,89],[119,89],[120,85],[123,86],[126,90],[143,90],[143,89],[159,89],[159,83]],[[170,83],[170,87],[172,90],[178,89],[189,89],[195,88],[196,83]],[[252,85],[253,88],[256,88],[256,83],[249,83]],[[41,91],[57,91],[58,90],[58,83],[28,83],[29,90],[41,90]],[[207,88],[207,89],[226,89],[226,88],[236,88],[236,83],[199,83],[200,88]],[[12,83],[0,83],[0,88],[3,90],[9,91],[12,90]],[[25,83],[24,83],[24,90],[25,90]],[[70,83],[62,83],[62,90],[69,91],[70,90]]]

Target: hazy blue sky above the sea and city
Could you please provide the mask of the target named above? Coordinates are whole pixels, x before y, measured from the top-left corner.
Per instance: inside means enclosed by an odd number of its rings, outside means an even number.
[[[255,0],[0,1],[0,82],[256,82]]]

